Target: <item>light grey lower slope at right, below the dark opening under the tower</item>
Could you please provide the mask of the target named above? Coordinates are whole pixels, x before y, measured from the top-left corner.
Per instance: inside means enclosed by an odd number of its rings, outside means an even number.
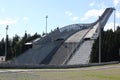
[[[69,60],[67,65],[87,64],[89,62],[89,56],[90,56],[93,42],[94,42],[93,40],[84,41],[81,44],[81,47],[77,50],[77,52]]]

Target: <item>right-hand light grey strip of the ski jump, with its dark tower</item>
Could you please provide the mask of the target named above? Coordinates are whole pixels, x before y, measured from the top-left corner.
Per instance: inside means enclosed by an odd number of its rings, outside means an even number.
[[[99,27],[104,28],[108,18],[110,17],[114,8],[107,8],[103,15],[98,19],[97,23],[88,31],[84,37],[84,41],[77,51],[72,55],[72,57],[67,62],[68,65],[74,64],[87,64],[89,63],[91,48],[94,42],[94,39],[97,39],[99,36]],[[86,41],[87,40],[87,41]]]

